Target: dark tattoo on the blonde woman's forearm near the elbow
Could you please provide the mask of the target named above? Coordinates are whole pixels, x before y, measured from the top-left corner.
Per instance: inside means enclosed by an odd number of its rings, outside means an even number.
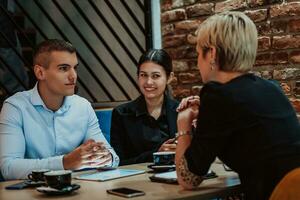
[[[201,182],[202,178],[201,176],[198,176],[192,172],[189,171],[187,162],[184,156],[179,161],[178,170],[180,173],[180,176],[182,177],[182,180],[193,187],[197,187]]]

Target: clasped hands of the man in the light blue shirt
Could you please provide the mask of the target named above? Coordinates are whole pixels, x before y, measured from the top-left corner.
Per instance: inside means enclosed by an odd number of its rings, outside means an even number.
[[[85,166],[97,167],[112,160],[111,153],[102,142],[87,140],[85,143],[63,157],[65,169],[78,169]]]

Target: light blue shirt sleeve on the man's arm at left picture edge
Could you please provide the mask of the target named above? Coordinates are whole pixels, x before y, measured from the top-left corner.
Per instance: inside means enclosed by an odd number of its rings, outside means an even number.
[[[17,107],[4,103],[0,115],[0,168],[4,179],[24,179],[33,169],[60,170],[63,155],[26,159],[23,119]],[[38,138],[37,138],[38,139]]]

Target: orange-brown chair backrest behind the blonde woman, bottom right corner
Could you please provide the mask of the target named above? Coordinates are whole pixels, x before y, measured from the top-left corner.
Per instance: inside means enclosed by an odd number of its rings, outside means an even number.
[[[269,200],[300,199],[300,167],[287,173],[276,185]]]

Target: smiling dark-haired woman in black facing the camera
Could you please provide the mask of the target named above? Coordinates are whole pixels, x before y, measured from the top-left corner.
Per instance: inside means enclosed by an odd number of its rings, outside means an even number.
[[[168,94],[172,59],[162,49],[145,52],[138,63],[141,95],[112,113],[111,145],[121,165],[151,162],[156,151],[175,151],[178,102]]]

